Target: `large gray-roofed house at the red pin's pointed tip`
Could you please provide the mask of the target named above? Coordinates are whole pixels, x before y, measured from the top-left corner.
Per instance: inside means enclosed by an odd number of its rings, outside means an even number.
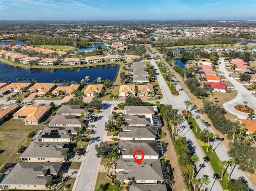
[[[116,178],[125,183],[167,183],[169,178],[160,159],[143,159],[140,165],[134,159],[120,158],[116,161]]]

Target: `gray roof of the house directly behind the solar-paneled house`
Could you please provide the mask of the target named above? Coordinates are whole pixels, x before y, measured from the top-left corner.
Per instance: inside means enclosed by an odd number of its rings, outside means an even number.
[[[50,124],[82,124],[84,119],[75,118],[75,115],[56,115],[50,121]]]

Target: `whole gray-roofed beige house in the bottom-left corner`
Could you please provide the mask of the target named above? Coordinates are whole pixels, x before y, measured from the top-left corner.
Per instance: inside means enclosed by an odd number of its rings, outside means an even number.
[[[44,183],[50,177],[57,177],[62,163],[19,162],[0,183],[2,189],[46,190]]]

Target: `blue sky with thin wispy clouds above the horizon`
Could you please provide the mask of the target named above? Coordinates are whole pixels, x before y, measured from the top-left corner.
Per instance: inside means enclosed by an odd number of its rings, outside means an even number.
[[[256,0],[0,0],[0,20],[256,20]]]

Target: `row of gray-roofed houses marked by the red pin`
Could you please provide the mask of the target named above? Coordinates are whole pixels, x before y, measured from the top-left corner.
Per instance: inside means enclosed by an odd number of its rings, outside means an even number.
[[[125,106],[126,116],[131,118],[146,118],[154,116],[158,110],[155,106]],[[124,120],[124,118],[123,118]],[[120,158],[117,159],[116,178],[126,184],[131,184],[130,190],[161,190],[167,191],[165,183],[169,182],[166,165],[162,165],[160,157],[164,155],[162,143],[157,141],[161,126],[144,125],[143,121],[132,120],[120,131],[118,148]],[[142,123],[140,123],[142,122]],[[142,150],[144,159],[137,164],[133,158],[134,152]],[[136,158],[142,158],[141,152],[136,152]]]

